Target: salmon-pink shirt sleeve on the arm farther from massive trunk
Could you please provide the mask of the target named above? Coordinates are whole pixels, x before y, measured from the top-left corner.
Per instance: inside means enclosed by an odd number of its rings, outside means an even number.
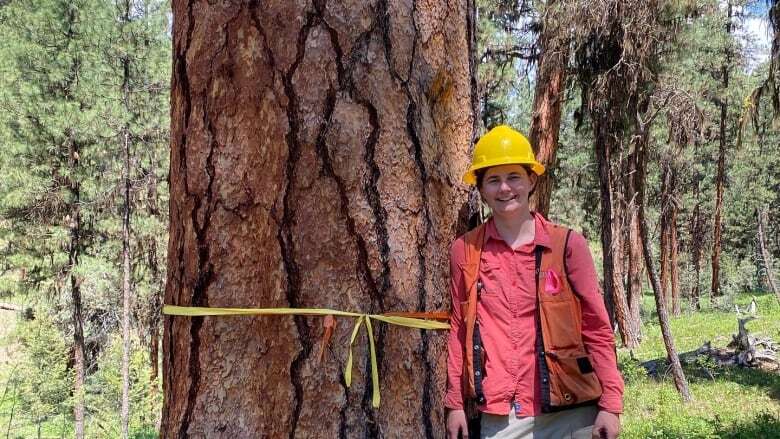
[[[615,336],[587,241],[574,231],[566,248],[566,275],[582,305],[582,340],[593,358],[593,370],[602,388],[599,408],[622,413],[623,377],[617,368]]]

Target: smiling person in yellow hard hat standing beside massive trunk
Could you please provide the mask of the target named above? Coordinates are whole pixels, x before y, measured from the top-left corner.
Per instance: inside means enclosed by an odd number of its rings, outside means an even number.
[[[531,212],[544,167],[499,126],[464,175],[492,211],[450,252],[447,437],[468,437],[476,404],[485,438],[615,438],[623,380],[585,239]]]

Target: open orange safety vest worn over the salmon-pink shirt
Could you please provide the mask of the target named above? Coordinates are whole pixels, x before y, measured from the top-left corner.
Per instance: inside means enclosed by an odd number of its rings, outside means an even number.
[[[582,310],[580,299],[566,276],[565,250],[569,229],[548,225],[552,248],[537,246],[536,254],[536,329],[539,368],[542,376],[542,411],[559,411],[594,404],[601,396],[601,383],[593,372],[591,358],[582,343]],[[463,390],[466,398],[485,403],[482,394],[485,354],[479,337],[477,302],[482,282],[479,262],[485,242],[485,225],[465,236],[466,255],[463,277],[468,288],[468,301],[461,304],[466,324],[465,355],[463,356]],[[548,270],[560,273],[558,294],[543,294]]]

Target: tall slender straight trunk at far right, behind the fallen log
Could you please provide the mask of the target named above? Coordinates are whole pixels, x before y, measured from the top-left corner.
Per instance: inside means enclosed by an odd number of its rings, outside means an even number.
[[[728,2],[728,13],[726,21],[726,34],[731,35],[731,14],[732,5]],[[729,70],[731,66],[731,49],[724,51],[723,65],[721,67],[721,78],[723,87],[720,96],[720,138],[718,142],[718,173],[715,176],[715,213],[712,227],[712,285],[710,292],[712,298],[721,295],[720,291],[720,253],[721,253],[721,234],[723,232],[723,191],[726,183],[726,149],[728,149],[727,123],[728,123],[728,88],[729,88]]]

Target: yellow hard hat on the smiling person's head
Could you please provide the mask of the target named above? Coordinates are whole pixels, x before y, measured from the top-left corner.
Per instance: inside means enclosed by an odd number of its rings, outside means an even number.
[[[506,125],[488,131],[474,147],[471,167],[463,175],[466,184],[477,184],[474,171],[499,165],[531,165],[536,175],[544,174],[544,166],[536,161],[531,143],[524,135]]]

